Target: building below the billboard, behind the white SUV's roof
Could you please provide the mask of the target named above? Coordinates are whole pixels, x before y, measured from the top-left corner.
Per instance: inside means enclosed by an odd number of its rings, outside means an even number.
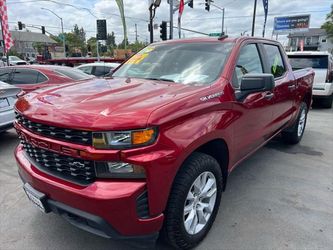
[[[287,51],[328,51],[333,52],[332,39],[327,37],[324,29],[310,28],[307,32],[295,32],[288,35]]]

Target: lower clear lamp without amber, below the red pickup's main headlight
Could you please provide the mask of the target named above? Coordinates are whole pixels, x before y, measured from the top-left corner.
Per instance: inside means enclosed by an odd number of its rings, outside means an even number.
[[[97,178],[145,178],[142,166],[126,162],[96,162]]]

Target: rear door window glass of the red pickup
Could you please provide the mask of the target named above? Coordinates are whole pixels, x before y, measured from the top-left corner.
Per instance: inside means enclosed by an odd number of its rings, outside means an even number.
[[[281,52],[278,46],[264,44],[264,48],[267,54],[268,67],[271,70],[271,74],[275,78],[283,76],[286,72],[286,68],[283,63]]]

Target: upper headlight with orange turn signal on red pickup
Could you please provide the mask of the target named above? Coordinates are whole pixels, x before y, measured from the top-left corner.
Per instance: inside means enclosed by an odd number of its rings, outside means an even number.
[[[97,149],[125,149],[150,145],[157,138],[157,129],[93,133],[93,146]]]

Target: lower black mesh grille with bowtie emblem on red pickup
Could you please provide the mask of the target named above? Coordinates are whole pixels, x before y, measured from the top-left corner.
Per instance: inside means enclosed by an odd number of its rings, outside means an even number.
[[[37,148],[26,141],[21,141],[25,152],[34,165],[41,171],[59,178],[87,185],[96,179],[93,161],[82,160],[70,156]]]

